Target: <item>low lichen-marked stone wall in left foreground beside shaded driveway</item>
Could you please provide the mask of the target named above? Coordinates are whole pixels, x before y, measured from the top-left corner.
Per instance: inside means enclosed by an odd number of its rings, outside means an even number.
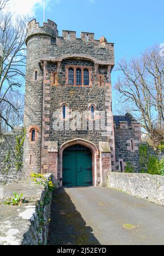
[[[50,174],[46,179],[52,178]],[[3,202],[13,192],[24,193],[28,201],[21,206]],[[47,245],[52,193],[33,182],[9,184],[3,188],[0,211],[0,245]]]

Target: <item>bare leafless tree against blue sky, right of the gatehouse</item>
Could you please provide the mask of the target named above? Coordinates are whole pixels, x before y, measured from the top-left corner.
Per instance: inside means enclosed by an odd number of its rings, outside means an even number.
[[[117,70],[120,101],[140,117],[144,131],[157,145],[164,139],[164,58],[159,48],[154,46],[130,62],[122,60]]]

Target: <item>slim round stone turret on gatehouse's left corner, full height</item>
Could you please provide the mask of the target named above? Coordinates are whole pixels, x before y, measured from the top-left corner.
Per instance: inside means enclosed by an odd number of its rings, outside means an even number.
[[[58,35],[57,26],[48,20],[43,27],[39,27],[36,20],[28,24],[26,38],[27,68],[26,68],[26,94],[25,117],[26,139],[24,146],[24,175],[33,170],[40,172],[42,114],[43,114],[43,67],[40,62],[43,37],[55,41]],[[35,131],[35,141],[32,132]]]

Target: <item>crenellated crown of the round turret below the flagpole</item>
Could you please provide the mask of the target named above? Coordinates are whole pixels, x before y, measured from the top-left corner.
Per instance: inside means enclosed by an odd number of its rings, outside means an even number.
[[[39,26],[39,22],[36,22],[36,19],[31,20],[27,26],[26,44],[30,37],[36,35],[56,38],[56,36],[58,36],[56,23],[54,21],[48,20],[48,22],[43,23],[43,26]]]

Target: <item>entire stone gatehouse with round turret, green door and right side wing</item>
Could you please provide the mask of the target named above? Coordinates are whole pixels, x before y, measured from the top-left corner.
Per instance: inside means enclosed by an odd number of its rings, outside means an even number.
[[[28,24],[24,177],[51,172],[61,186],[105,185],[109,172],[138,169],[140,124],[113,117],[114,44],[94,33]]]

